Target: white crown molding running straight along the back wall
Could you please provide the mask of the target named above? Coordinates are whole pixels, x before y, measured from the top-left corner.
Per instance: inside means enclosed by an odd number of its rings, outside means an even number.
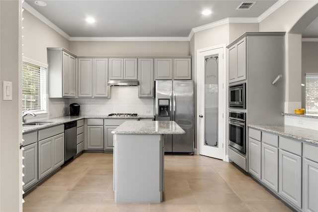
[[[70,37],[70,41],[189,41],[188,37]]]

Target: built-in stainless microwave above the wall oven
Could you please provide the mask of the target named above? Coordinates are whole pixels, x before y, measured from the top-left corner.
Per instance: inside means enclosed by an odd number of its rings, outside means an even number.
[[[245,109],[246,83],[229,86],[229,107]]]

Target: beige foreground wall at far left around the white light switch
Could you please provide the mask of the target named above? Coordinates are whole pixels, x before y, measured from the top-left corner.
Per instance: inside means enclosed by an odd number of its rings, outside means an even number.
[[[21,1],[0,0],[0,81],[12,82],[12,100],[0,98],[0,211],[22,212]]]

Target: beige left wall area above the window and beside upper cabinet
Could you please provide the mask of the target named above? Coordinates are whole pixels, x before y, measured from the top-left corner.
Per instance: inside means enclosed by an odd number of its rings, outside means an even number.
[[[69,40],[43,23],[37,17],[23,11],[23,56],[43,64],[47,62],[47,47],[69,49]]]

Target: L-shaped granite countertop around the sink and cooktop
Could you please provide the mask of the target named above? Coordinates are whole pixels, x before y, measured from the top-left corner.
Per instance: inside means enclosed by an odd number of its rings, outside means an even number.
[[[77,121],[80,119],[154,119],[155,116],[152,115],[138,115],[135,117],[114,117],[114,116],[108,116],[108,115],[79,115],[79,116],[61,116],[57,118],[51,118],[51,119],[43,119],[40,120],[40,122],[52,122],[47,123],[45,125],[33,125],[33,126],[22,126],[22,133],[30,133],[37,130],[42,130],[49,127],[54,127],[57,125],[62,125],[64,123]],[[37,122],[37,121],[34,121]],[[32,122],[29,122],[32,123]],[[27,124],[27,123],[26,123]]]

